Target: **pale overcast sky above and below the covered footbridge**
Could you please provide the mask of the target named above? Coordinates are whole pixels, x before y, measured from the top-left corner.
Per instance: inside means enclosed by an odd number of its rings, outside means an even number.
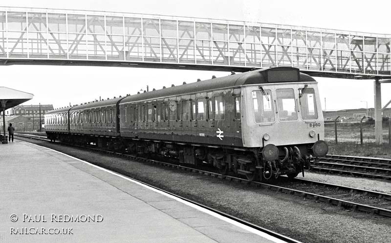
[[[319,3],[316,3],[319,2]],[[290,24],[318,28],[391,34],[390,0],[2,0],[6,7],[39,7],[160,14],[196,18]],[[0,66],[0,86],[34,94],[24,104],[55,108],[99,97],[135,94],[146,85],[162,86],[228,75],[224,72],[83,66]],[[373,107],[373,81],[316,78],[322,107]],[[382,103],[391,99],[391,84],[382,84]]]

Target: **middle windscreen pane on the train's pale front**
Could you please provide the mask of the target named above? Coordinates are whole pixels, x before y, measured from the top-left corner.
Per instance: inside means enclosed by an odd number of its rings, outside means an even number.
[[[281,121],[296,121],[297,109],[293,89],[277,89],[277,108]]]

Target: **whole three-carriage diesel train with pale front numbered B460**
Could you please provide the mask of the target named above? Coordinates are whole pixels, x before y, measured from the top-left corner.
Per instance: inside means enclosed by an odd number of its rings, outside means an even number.
[[[304,175],[328,151],[317,82],[266,68],[45,114],[47,137],[186,164],[248,180]]]

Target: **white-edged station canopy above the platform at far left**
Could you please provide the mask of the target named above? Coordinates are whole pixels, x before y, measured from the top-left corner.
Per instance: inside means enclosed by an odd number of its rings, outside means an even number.
[[[33,94],[7,87],[0,87],[0,105],[2,106],[5,103],[5,110],[31,99],[33,99]]]

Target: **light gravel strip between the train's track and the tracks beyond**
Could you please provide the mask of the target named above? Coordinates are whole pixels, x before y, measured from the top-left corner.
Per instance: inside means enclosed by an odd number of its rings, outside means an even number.
[[[299,174],[297,178],[303,177]],[[320,174],[314,172],[305,172],[303,179],[391,194],[391,182],[387,180],[376,180],[343,175]]]

